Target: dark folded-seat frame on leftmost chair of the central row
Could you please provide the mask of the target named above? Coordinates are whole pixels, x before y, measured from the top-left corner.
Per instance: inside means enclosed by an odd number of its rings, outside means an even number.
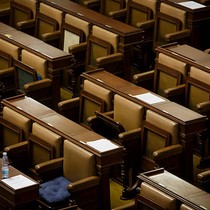
[[[80,110],[79,110],[79,123],[83,122],[83,107],[85,100],[90,101],[91,103],[94,103],[99,106],[99,111],[104,112],[105,111],[105,101],[101,98],[96,97],[95,95],[92,95],[91,93],[81,90],[80,92]]]

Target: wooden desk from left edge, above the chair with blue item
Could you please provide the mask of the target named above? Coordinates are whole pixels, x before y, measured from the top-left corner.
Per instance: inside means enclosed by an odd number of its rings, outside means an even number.
[[[47,60],[47,77],[53,82],[56,107],[60,101],[61,71],[70,68],[71,55],[4,23],[0,23],[0,38]]]

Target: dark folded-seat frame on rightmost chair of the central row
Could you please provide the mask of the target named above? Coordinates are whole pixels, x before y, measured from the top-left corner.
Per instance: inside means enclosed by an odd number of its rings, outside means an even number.
[[[155,133],[156,135],[160,136],[161,138],[163,138],[165,140],[165,147],[170,146],[171,145],[171,134],[165,130],[162,130],[154,125],[152,125],[151,123],[145,121],[144,125],[142,127],[142,136],[141,136],[141,162],[143,164],[147,164],[149,165],[156,165],[155,162],[153,161],[153,159],[148,158],[145,155],[145,151],[146,151],[146,140],[147,140],[147,132],[151,131],[153,133]],[[155,141],[155,139],[154,139]],[[149,166],[150,167],[150,166]],[[152,169],[152,168],[151,168]]]

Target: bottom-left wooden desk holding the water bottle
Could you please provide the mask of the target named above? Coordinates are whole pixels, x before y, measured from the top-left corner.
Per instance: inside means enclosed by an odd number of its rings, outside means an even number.
[[[0,159],[0,168],[2,166],[2,161]],[[9,166],[10,178],[16,175],[22,175],[30,180],[28,176],[18,171],[12,166]],[[0,179],[2,176],[0,175]],[[9,185],[5,184],[2,180],[0,180],[0,209],[1,210],[9,210],[9,209],[17,209],[17,210],[27,210],[27,205],[30,202],[33,202],[39,198],[39,184],[34,182],[33,185],[27,186],[21,189],[14,189]]]

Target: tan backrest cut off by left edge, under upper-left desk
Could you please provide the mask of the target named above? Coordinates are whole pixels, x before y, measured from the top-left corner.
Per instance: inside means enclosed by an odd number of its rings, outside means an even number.
[[[18,60],[20,57],[20,48],[10,42],[0,39],[0,49]]]

